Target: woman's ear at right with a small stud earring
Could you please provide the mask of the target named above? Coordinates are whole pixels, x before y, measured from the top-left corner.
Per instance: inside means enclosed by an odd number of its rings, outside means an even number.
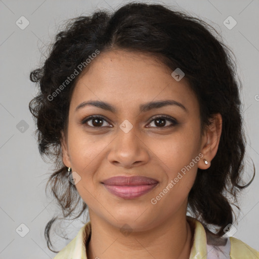
[[[210,119],[211,124],[206,127],[202,135],[201,141],[201,153],[203,157],[198,162],[200,169],[207,169],[210,166],[211,160],[217,154],[220,144],[220,138],[222,133],[222,116],[220,113],[213,115]],[[208,161],[208,164],[204,163],[204,159]]]

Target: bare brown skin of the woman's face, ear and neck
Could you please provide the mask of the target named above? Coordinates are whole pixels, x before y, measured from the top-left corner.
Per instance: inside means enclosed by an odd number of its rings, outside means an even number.
[[[80,176],[76,189],[89,207],[89,259],[190,256],[193,229],[186,220],[188,194],[197,168],[208,168],[217,153],[222,117],[215,114],[201,134],[198,100],[186,78],[176,81],[171,72],[151,56],[113,50],[100,53],[76,83],[68,129],[62,133],[62,156],[73,177]],[[139,111],[141,104],[168,99],[181,103],[188,112],[177,105]],[[94,106],[75,110],[90,100],[105,101],[117,112]],[[80,123],[90,115],[107,119],[95,127],[95,119]],[[155,115],[171,116],[178,124],[166,119],[160,126],[152,119]],[[119,127],[125,119],[133,125],[128,133]],[[151,204],[151,199],[199,153],[203,157],[156,204]],[[154,178],[159,184],[135,199],[119,198],[101,184],[113,176],[133,175]],[[124,224],[132,230],[128,235],[120,232]]]

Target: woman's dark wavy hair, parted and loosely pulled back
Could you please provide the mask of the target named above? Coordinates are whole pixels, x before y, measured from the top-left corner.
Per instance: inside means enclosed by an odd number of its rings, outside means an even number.
[[[44,64],[30,72],[30,80],[39,87],[36,97],[29,103],[37,125],[39,153],[42,158],[55,159],[56,165],[46,189],[51,186],[63,219],[74,212],[81,200],[75,185],[67,180],[67,167],[61,158],[61,132],[67,128],[71,95],[79,76],[53,100],[49,100],[50,96],[96,50],[103,53],[116,49],[152,55],[171,71],[176,68],[184,71],[199,102],[202,131],[214,114],[222,115],[218,152],[209,168],[198,168],[188,196],[188,210],[202,222],[206,231],[212,233],[209,225],[219,227],[213,234],[221,237],[224,228],[234,220],[231,205],[240,210],[238,194],[250,185],[255,175],[254,169],[251,181],[241,185],[246,145],[239,93],[242,85],[233,52],[211,25],[159,4],[132,2],[113,13],[96,10],[92,15],[67,20],[50,46]],[[74,219],[87,208],[83,202]],[[56,220],[57,217],[53,217],[45,228],[50,250],[50,230]]]

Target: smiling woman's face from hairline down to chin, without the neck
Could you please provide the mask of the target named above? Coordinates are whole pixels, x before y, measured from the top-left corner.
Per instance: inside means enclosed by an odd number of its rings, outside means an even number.
[[[76,83],[62,154],[92,219],[144,230],[186,214],[197,168],[207,168],[203,158],[213,154],[206,153],[197,98],[171,72],[152,57],[117,50],[101,53]],[[165,100],[171,104],[147,106]],[[89,101],[112,109],[82,105]],[[157,184],[138,197],[120,197],[103,184],[115,176]]]

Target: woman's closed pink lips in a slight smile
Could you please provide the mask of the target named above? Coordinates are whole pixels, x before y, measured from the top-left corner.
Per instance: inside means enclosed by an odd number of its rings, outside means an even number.
[[[158,181],[148,177],[112,177],[102,182],[112,194],[127,199],[134,199],[151,191]]]

